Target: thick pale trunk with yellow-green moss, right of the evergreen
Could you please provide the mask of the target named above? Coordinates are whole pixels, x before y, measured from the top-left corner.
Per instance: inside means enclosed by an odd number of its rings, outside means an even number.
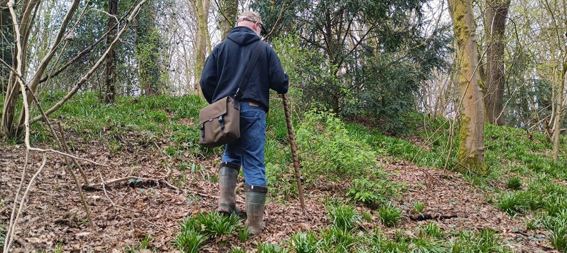
[[[457,42],[458,85],[461,89],[461,128],[457,160],[460,172],[485,175],[484,104],[478,76],[476,25],[471,0],[448,0]]]

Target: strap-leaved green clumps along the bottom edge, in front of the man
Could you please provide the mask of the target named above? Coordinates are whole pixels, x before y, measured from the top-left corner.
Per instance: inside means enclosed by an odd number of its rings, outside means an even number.
[[[436,222],[428,222],[412,232],[396,229],[386,234],[379,227],[363,224],[363,217],[352,205],[336,199],[325,205],[326,227],[295,232],[277,244],[250,237],[244,227],[246,217],[216,212],[184,217],[173,244],[181,252],[201,252],[214,245],[220,245],[224,252],[511,252],[490,229],[443,232]],[[395,227],[398,222],[380,216],[385,225],[391,222]]]

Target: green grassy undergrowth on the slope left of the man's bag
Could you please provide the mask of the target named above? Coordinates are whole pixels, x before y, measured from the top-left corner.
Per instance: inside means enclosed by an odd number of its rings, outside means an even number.
[[[49,108],[63,95],[44,95],[43,108]],[[67,133],[86,142],[108,141],[111,153],[119,153],[126,144],[151,148],[156,140],[166,139],[171,143],[164,150],[169,156],[206,155],[220,149],[199,145],[199,110],[205,105],[206,101],[197,95],[119,97],[114,104],[106,104],[101,103],[96,93],[81,93],[67,101],[51,118],[60,120]],[[43,123],[32,125],[31,130],[32,145],[51,140]]]

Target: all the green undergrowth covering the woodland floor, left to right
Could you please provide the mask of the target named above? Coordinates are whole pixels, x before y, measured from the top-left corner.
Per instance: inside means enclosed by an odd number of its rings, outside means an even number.
[[[64,94],[42,96],[44,108],[56,103]],[[435,167],[450,171],[458,153],[457,126],[450,120],[423,118],[412,135],[391,136],[356,123],[341,120],[325,110],[301,110],[289,96],[292,108],[291,120],[296,136],[296,148],[301,160],[303,187],[328,190],[342,196],[341,205],[326,203],[328,212],[350,213],[356,221],[341,220],[345,227],[333,227],[319,231],[303,231],[293,234],[281,244],[259,243],[259,252],[313,252],[325,249],[330,252],[507,252],[498,246],[501,239],[493,231],[443,231],[433,224],[419,227],[408,236],[404,233],[400,216],[406,210],[398,210],[396,200],[406,192],[406,186],[390,180],[383,165],[376,158],[406,160],[423,167]],[[67,133],[85,142],[101,140],[111,152],[120,154],[124,145],[154,149],[171,158],[179,158],[183,176],[174,179],[178,187],[190,180],[215,182],[203,165],[188,162],[188,157],[213,160],[222,155],[222,148],[203,148],[199,143],[199,110],[206,102],[197,95],[157,95],[139,98],[117,98],[116,103],[106,105],[95,93],[80,93],[71,98],[51,118],[61,120]],[[413,117],[416,118],[416,117]],[[266,177],[269,180],[269,201],[281,205],[297,202],[298,187],[293,172],[288,129],[283,113],[281,97],[273,95],[267,116]],[[415,120],[419,123],[420,120]],[[33,143],[51,143],[44,123],[32,128]],[[486,125],[486,166],[488,175],[469,173],[464,177],[473,182],[491,202],[515,219],[525,220],[526,229],[545,230],[553,247],[567,249],[567,160],[566,140],[562,136],[562,153],[558,162],[551,159],[552,145],[543,133],[527,133],[525,130]],[[69,140],[71,148],[72,141]],[[156,141],[166,143],[161,147],[151,145]],[[341,184],[336,184],[336,182]],[[338,186],[337,186],[338,185]],[[306,191],[308,195],[308,191]],[[189,198],[189,197],[188,197]],[[194,205],[199,199],[188,199]],[[323,201],[323,200],[321,200]],[[421,204],[421,205],[418,205]],[[363,205],[363,212],[349,208]],[[421,207],[420,207],[421,206]],[[338,208],[338,209],[337,209]],[[414,209],[423,209],[423,203],[414,203]],[[343,212],[344,211],[344,212]],[[361,227],[362,220],[383,223],[383,227],[399,232],[384,234],[379,229]],[[529,218],[528,218],[529,217]],[[209,217],[213,219],[213,217]],[[338,219],[337,217],[335,217]],[[186,219],[194,219],[187,217]],[[186,222],[186,221],[184,221]],[[201,221],[202,222],[202,221]],[[199,236],[180,232],[178,249],[191,252],[191,247],[181,247],[185,242],[201,242],[199,245],[223,242],[211,237],[239,237],[246,241],[241,220],[233,221],[236,227],[228,234]],[[352,223],[353,222],[353,223]],[[189,225],[188,225],[189,226]],[[206,225],[205,225],[206,226]],[[183,227],[183,225],[181,225]],[[189,229],[191,230],[191,229]],[[1,229],[0,229],[1,231]],[[150,236],[150,235],[149,235]],[[151,237],[148,237],[150,240]],[[229,242],[230,239],[226,239]],[[144,245],[146,242],[140,242]],[[361,246],[356,246],[361,245]],[[139,247],[139,246],[133,246]],[[196,247],[196,249],[201,249]],[[232,249],[239,252],[239,249]],[[318,251],[321,252],[321,251]]]

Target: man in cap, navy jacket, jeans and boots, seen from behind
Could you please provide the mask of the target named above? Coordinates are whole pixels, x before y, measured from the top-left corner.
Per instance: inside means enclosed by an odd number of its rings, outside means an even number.
[[[266,113],[269,110],[269,90],[283,94],[288,91],[288,76],[271,46],[261,41],[266,33],[264,23],[254,11],[244,11],[236,27],[219,43],[206,59],[201,74],[201,91],[207,102],[234,96],[256,43],[261,53],[243,91],[240,109],[240,138],[226,144],[219,168],[218,212],[232,214],[236,209],[236,182],[240,167],[244,172],[246,192],[246,226],[253,236],[264,227],[264,205],[268,187],[264,148],[266,145]]]

